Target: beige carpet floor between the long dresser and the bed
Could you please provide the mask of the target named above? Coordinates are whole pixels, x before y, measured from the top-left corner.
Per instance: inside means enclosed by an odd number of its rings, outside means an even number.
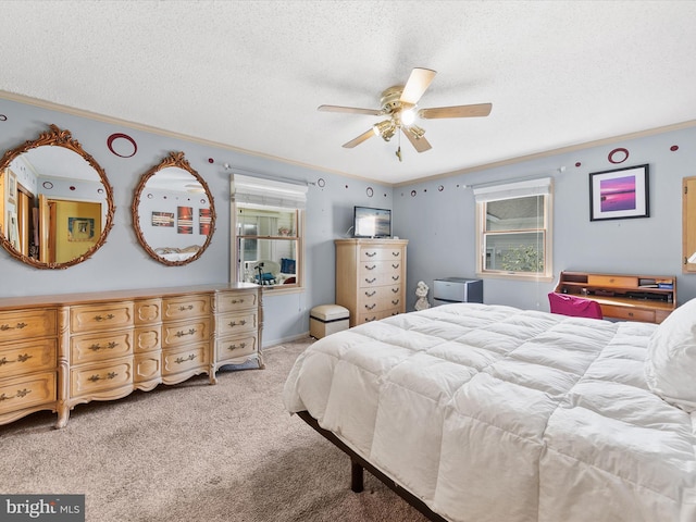
[[[425,518],[283,408],[311,340],[273,347],[265,370],[223,371],[112,402],[67,426],[39,412],[0,426],[0,493],[85,494],[89,522],[395,521]]]

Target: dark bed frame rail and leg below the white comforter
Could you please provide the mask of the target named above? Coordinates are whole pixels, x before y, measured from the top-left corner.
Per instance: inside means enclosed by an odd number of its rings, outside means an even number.
[[[427,520],[432,520],[434,522],[447,522],[447,519],[444,519],[439,514],[432,511],[423,500],[413,495],[408,489],[399,486],[393,478],[385,475],[383,472],[377,470],[374,465],[368,462],[364,458],[356,453],[351,448],[349,448],[346,443],[339,439],[334,433],[324,430],[319,425],[316,419],[309,414],[308,411],[298,411],[297,414],[307,422],[310,426],[312,426],[318,433],[320,433],[323,437],[328,439],[332,444],[334,444],[338,449],[344,451],[348,457],[350,457],[350,489],[355,493],[361,493],[364,488],[363,486],[363,471],[368,470],[372,475],[383,482],[387,487],[394,490],[398,496],[403,498],[407,502],[418,509],[421,513],[423,513]]]

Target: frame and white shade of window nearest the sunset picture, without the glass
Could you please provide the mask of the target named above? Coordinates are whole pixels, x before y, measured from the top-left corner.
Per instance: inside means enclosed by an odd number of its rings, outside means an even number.
[[[489,185],[474,188],[476,202],[476,275],[480,277],[507,277],[514,279],[552,281],[552,190],[554,181],[550,177],[526,179],[515,183]],[[533,228],[519,231],[486,231],[486,206],[490,201],[519,199],[531,196],[544,197],[543,223]],[[486,269],[486,237],[495,234],[536,233],[540,232],[544,245],[542,272],[515,272],[509,270]]]

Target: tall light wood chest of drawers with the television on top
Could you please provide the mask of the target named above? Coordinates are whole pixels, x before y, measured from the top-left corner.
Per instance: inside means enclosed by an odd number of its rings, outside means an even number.
[[[350,326],[406,311],[405,239],[336,239],[336,304]]]

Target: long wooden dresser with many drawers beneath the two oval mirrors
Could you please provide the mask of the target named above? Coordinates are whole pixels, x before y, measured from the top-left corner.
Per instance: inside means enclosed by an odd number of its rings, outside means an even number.
[[[263,368],[259,286],[239,283],[2,299],[0,424],[134,389],[177,384],[224,364]]]

